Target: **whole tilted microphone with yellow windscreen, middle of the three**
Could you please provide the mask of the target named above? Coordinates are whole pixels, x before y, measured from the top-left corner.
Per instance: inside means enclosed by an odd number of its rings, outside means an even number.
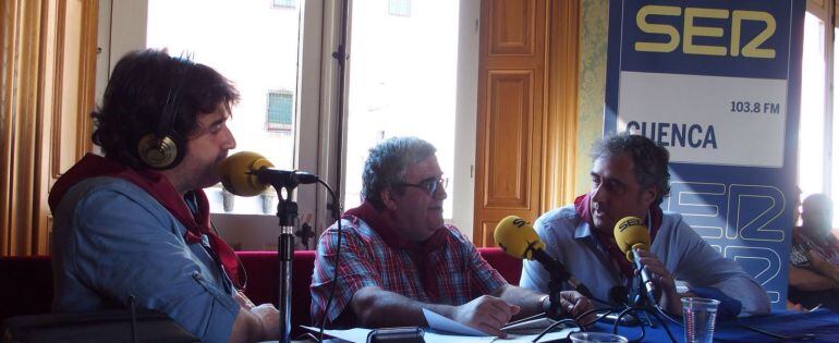
[[[550,273],[551,279],[568,282],[580,294],[594,298],[592,291],[574,278],[566,269],[566,266],[545,253],[545,242],[542,242],[536,230],[533,230],[533,226],[524,219],[507,216],[496,225],[493,237],[507,255],[527,260],[535,259]]]

